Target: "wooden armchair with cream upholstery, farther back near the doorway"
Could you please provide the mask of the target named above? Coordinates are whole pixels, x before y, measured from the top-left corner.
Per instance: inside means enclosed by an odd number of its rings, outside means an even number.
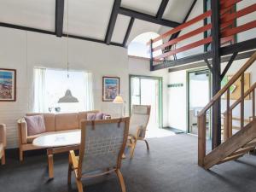
[[[134,150],[136,148],[137,141],[143,141],[147,145],[149,150],[148,142],[145,139],[148,120],[150,116],[150,106],[148,105],[133,105],[130,119],[128,146],[131,148],[130,158],[133,158]]]

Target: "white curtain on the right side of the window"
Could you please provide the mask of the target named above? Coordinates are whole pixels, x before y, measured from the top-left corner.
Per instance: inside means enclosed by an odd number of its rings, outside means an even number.
[[[84,108],[86,111],[94,109],[93,90],[92,90],[92,74],[84,72],[85,97]]]

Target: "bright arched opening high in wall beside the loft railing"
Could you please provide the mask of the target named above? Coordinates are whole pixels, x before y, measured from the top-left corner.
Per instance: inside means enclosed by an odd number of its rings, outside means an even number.
[[[150,52],[149,52],[149,47],[147,46],[147,43],[148,41],[150,41],[150,39],[157,38],[158,36],[160,35],[156,32],[144,32],[138,35],[128,45],[128,55],[150,58]],[[162,40],[156,42],[154,46],[158,46],[160,44],[163,44]],[[161,50],[154,52],[154,56],[160,55],[160,54],[161,54]]]

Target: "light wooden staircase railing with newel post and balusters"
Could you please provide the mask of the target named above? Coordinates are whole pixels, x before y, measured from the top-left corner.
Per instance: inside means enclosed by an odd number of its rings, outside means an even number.
[[[212,100],[207,104],[205,108],[201,110],[201,112],[198,115],[198,164],[200,166],[204,166],[204,160],[206,157],[206,134],[207,134],[207,123],[206,123],[206,118],[207,118],[207,111],[212,108],[213,104],[218,102],[221,98],[226,93],[226,117],[227,118],[225,121],[225,127],[230,128],[230,125],[232,123],[232,117],[231,117],[231,111],[234,108],[234,106],[230,107],[230,86],[234,84],[237,79],[241,79],[241,99],[238,100],[240,103],[241,107],[241,129],[244,127],[244,100],[248,93],[244,91],[244,73],[247,70],[248,67],[250,67],[253,62],[256,60],[256,52],[251,56],[251,58],[244,64],[243,67],[230,79],[228,84],[224,85],[224,87],[218,91],[218,93],[212,97]],[[255,87],[252,88],[253,94],[255,94]],[[248,90],[250,91],[250,90]],[[236,103],[234,103],[236,105]],[[255,118],[255,96],[253,97],[253,119]],[[227,131],[227,129],[226,129]],[[230,129],[229,129],[230,131]]]

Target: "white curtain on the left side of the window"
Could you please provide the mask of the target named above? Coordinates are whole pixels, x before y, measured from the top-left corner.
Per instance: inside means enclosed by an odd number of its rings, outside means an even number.
[[[45,68],[34,68],[34,105],[33,111],[44,113],[45,105]]]

